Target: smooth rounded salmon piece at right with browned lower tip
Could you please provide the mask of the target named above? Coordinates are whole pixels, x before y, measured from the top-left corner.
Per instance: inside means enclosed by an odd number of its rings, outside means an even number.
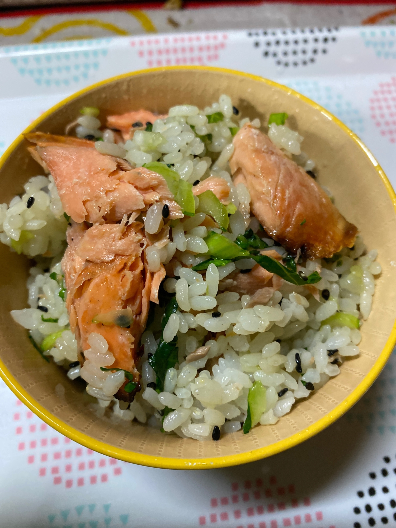
[[[274,240],[290,253],[329,258],[352,247],[357,234],[325,191],[258,129],[244,125],[233,139],[234,185],[243,183],[251,211]]]

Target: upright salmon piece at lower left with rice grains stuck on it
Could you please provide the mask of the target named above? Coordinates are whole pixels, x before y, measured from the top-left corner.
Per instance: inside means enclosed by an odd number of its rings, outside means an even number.
[[[89,348],[91,332],[102,335],[115,362],[139,381],[137,344],[147,322],[152,277],[144,262],[143,224],[73,224],[62,259],[68,290],[70,327],[81,350]],[[106,248],[106,249],[105,249]],[[130,309],[129,328],[95,323],[100,315]]]

